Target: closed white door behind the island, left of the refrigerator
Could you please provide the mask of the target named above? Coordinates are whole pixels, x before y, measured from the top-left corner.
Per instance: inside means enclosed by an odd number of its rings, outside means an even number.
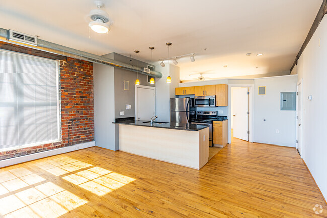
[[[155,114],[155,88],[136,87],[136,119],[150,121]]]

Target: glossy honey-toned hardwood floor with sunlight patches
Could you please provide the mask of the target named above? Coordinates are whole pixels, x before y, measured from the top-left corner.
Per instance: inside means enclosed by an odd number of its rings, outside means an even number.
[[[294,148],[235,138],[201,170],[92,147],[2,168],[0,183],[6,218],[327,217]]]

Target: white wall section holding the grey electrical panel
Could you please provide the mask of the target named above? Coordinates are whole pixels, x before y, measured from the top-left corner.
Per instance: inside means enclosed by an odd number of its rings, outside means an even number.
[[[255,79],[254,142],[296,147],[296,111],[280,110],[281,92],[296,92],[296,83],[297,75]],[[258,94],[259,86],[266,87],[265,95]]]

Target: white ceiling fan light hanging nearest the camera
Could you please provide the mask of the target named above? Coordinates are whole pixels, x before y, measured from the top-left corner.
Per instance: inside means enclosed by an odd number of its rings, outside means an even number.
[[[101,1],[95,1],[98,9],[93,9],[89,13],[89,17],[92,20],[89,23],[89,27],[96,33],[107,33],[110,30],[109,15],[107,12],[102,11],[101,8],[104,4]]]

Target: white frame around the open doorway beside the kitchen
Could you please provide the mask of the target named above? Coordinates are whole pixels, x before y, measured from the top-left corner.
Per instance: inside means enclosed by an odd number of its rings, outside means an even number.
[[[254,84],[228,84],[228,144],[231,144],[231,88],[232,87],[248,87],[249,88],[249,142],[253,142],[254,137]]]

